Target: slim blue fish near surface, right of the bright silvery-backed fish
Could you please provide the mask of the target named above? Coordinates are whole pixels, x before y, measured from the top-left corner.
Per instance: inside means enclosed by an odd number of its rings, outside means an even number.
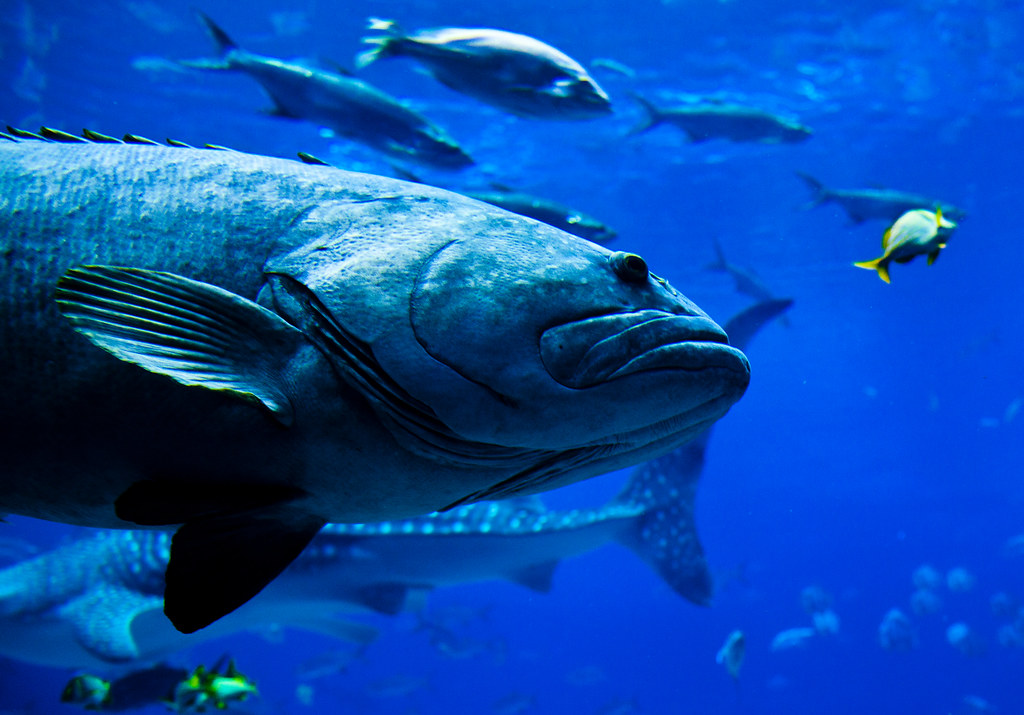
[[[642,134],[659,124],[671,124],[694,143],[710,139],[794,143],[811,136],[807,127],[752,107],[724,102],[657,107],[639,94],[633,98],[640,102],[646,117],[630,131],[631,135]]]

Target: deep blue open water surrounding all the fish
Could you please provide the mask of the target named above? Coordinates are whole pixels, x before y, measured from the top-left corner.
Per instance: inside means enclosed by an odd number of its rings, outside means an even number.
[[[157,139],[210,142],[388,173],[371,150],[313,125],[260,113],[249,78],[177,72],[162,59],[209,56],[189,0],[6,0],[0,13],[0,119]],[[245,9],[241,9],[242,7]],[[565,561],[538,594],[495,582],[437,591],[431,608],[486,607],[463,628],[497,643],[453,660],[415,619],[383,630],[344,673],[296,696],[297,664],[335,648],[289,632],[196,648],[183,662],[231,653],[260,685],[252,712],[489,713],[519,693],[528,713],[949,713],[965,696],[1024,712],[1024,651],[999,644],[997,591],[1024,598],[1021,559],[1006,541],[1024,532],[1021,339],[1024,265],[1024,4],[1010,0],[852,3],[772,0],[555,0],[517,3],[394,0],[247,3],[203,9],[243,46],[283,57],[351,65],[369,15],[408,28],[495,27],[541,38],[588,65],[636,71],[595,77],[615,114],[580,123],[519,120],[445,89],[411,61],[381,62],[368,81],[410,100],[479,163],[431,180],[498,180],[548,196],[614,226],[613,246],[714,318],[751,302],[703,268],[713,240],[796,300],[788,325],[761,334],[753,380],[715,428],[697,502],[698,528],[723,588],[714,606],[682,601],[617,547]],[[799,120],[800,144],[687,144],[660,127],[627,138],[641,112],[629,92],[664,102],[715,94]],[[893,267],[893,284],[851,266],[879,254],[886,225],[854,225],[829,204],[804,210],[804,171],[838,187],[888,186],[944,198],[969,216],[932,266]],[[623,474],[550,496],[597,504]],[[53,544],[72,530],[11,519],[4,536]],[[976,577],[941,589],[943,607],[913,615],[922,563]],[[745,578],[729,578],[745,564]],[[810,625],[802,589],[831,594],[841,629],[772,651],[775,633]],[[918,647],[884,650],[891,607],[910,615]],[[967,623],[986,644],[966,656],[946,628]],[[746,633],[738,685],[715,663],[733,629]],[[2,637],[2,633],[0,633]],[[278,639],[280,640],[280,638]],[[0,710],[72,712],[56,700],[66,671],[0,664]],[[402,675],[419,685],[374,697]],[[154,708],[153,712],[161,712]]]

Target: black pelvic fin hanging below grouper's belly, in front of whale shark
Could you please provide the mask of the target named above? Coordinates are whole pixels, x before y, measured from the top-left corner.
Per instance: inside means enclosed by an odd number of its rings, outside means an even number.
[[[182,633],[206,628],[278,578],[325,523],[272,507],[189,521],[171,541],[164,614]]]

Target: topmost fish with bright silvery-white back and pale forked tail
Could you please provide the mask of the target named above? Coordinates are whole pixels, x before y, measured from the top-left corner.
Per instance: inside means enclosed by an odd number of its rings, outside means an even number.
[[[422,62],[441,84],[519,117],[594,119],[611,102],[583,67],[532,37],[502,30],[438,28],[404,33],[389,19],[370,19],[381,35],[364,38],[366,67],[384,57]]]

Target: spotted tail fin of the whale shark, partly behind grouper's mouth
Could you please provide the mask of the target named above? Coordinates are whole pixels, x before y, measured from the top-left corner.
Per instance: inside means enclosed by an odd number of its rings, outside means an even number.
[[[793,301],[766,300],[725,324],[730,342],[745,349],[765,325],[784,313]],[[682,447],[641,464],[615,497],[616,503],[642,507],[621,541],[646,561],[683,598],[711,605],[715,585],[697,536],[694,501],[703,471],[711,429]]]

